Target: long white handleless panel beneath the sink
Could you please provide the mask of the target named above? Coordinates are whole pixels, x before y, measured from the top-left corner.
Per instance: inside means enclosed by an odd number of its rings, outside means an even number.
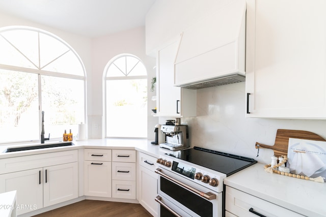
[[[78,161],[78,151],[60,151],[0,160],[0,174]]]

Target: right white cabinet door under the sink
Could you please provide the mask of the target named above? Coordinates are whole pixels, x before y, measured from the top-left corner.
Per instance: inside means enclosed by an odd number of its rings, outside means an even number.
[[[78,163],[43,168],[44,207],[78,197]]]

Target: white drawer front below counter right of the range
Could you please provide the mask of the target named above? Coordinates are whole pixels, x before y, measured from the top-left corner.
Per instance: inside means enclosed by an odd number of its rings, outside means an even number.
[[[304,216],[228,186],[226,187],[225,209],[241,217],[256,216],[254,213],[250,212],[249,209],[253,209],[255,212],[270,217]]]

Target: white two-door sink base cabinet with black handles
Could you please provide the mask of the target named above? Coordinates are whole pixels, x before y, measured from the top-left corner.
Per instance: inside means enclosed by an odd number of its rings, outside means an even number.
[[[15,190],[17,215],[77,198],[77,150],[0,160],[0,193]]]

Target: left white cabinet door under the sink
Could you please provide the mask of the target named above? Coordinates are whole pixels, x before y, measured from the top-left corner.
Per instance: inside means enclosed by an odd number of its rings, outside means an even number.
[[[32,169],[0,175],[0,192],[17,191],[17,214],[43,207],[43,169]]]

